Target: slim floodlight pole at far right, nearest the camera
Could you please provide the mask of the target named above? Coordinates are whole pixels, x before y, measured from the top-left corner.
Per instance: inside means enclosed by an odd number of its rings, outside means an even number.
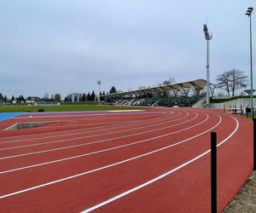
[[[246,15],[250,18],[250,70],[251,70],[251,115],[253,118],[253,43],[252,43],[252,12],[253,8],[248,8]]]

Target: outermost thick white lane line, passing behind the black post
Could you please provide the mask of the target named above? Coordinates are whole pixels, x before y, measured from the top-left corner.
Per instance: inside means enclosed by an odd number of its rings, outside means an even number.
[[[231,117],[231,118],[233,118],[233,117]],[[236,120],[236,118],[233,118],[233,119]],[[230,137],[233,136],[233,135],[236,133],[236,130],[238,130],[238,127],[239,127],[239,122],[236,120],[236,129],[235,129],[227,138],[225,138],[224,141],[221,141],[220,143],[218,143],[218,146],[217,146],[217,147],[221,146],[225,141],[228,141],[228,140],[230,139]],[[195,162],[195,160],[197,160],[197,159],[199,159],[199,158],[202,158],[203,156],[205,156],[207,153],[210,153],[210,152],[211,152],[211,149],[207,150],[207,152],[205,152],[205,153],[201,153],[200,155],[198,155],[198,156],[195,157],[195,158],[192,158],[191,160],[187,161],[186,163],[177,166],[175,169],[172,169],[172,170],[167,171],[166,173],[162,174],[161,176],[157,176],[157,177],[155,177],[154,179],[152,179],[152,180],[150,180],[150,181],[147,181],[147,182],[144,182],[143,184],[141,184],[141,185],[139,185],[139,186],[137,186],[137,187],[131,188],[130,190],[128,190],[128,191],[126,191],[126,192],[124,192],[124,193],[119,193],[119,195],[114,196],[113,198],[108,199],[108,200],[106,200],[106,201],[104,201],[104,202],[102,202],[102,203],[100,203],[100,204],[96,204],[96,205],[90,207],[90,208],[87,209],[87,210],[83,210],[82,212],[83,212],[83,213],[86,213],[86,212],[90,212],[90,211],[92,211],[92,210],[96,210],[96,209],[102,207],[103,205],[109,204],[109,203],[113,202],[114,200],[117,200],[117,199],[120,199],[120,198],[124,197],[124,196],[127,195],[127,194],[133,193],[133,192],[135,192],[135,191],[137,191],[137,190],[139,190],[139,189],[141,189],[141,188],[143,188],[143,187],[147,187],[147,186],[150,185],[151,183],[154,183],[155,181],[159,181],[160,179],[162,179],[162,178],[164,178],[164,177],[166,177],[166,176],[172,174],[173,172],[182,169],[182,168],[185,167],[186,165]]]

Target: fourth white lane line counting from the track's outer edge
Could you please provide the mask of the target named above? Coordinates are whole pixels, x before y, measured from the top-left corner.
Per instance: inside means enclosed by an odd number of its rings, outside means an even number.
[[[196,113],[196,112],[195,112]],[[195,118],[198,117],[198,114],[196,113],[196,116]],[[177,126],[177,125],[180,125],[180,124],[184,124],[184,123],[187,123],[191,120],[194,120],[195,118],[192,118],[190,120],[187,120],[185,122],[182,122],[182,123],[179,123],[179,124],[173,124],[171,126],[167,126],[167,127],[163,127],[163,128],[159,128],[159,129],[154,129],[154,130],[148,130],[148,131],[143,131],[143,132],[139,132],[139,133],[135,133],[135,134],[130,134],[130,135],[123,135],[123,136],[119,136],[119,137],[113,137],[113,138],[108,138],[108,139],[103,139],[103,140],[100,140],[100,141],[92,141],[92,142],[87,142],[87,143],[81,143],[81,144],[77,144],[77,145],[72,145],[72,146],[67,146],[67,147],[59,147],[59,148],[54,148],[54,149],[46,149],[46,150],[43,150],[43,151],[38,151],[38,152],[33,152],[33,153],[23,153],[23,154],[17,154],[17,155],[11,155],[11,156],[5,156],[5,157],[2,157],[0,158],[0,160],[3,160],[3,159],[8,159],[8,158],[17,158],[17,157],[22,157],[22,156],[27,156],[27,155],[32,155],[32,154],[38,154],[38,153],[49,153],[49,152],[54,152],[54,151],[58,151],[58,150],[63,150],[63,149],[68,149],[68,148],[73,148],[73,147],[84,147],[84,146],[88,146],[88,145],[91,145],[91,144],[97,144],[97,143],[101,143],[101,142],[105,142],[105,141],[113,141],[113,140],[117,140],[117,139],[121,139],[121,138],[125,138],[125,137],[131,137],[131,136],[134,136],[134,135],[143,135],[145,133],[149,133],[149,132],[154,132],[154,131],[159,131],[159,130],[164,130],[164,129],[167,129],[167,128],[170,128],[170,127],[173,127],[173,126]],[[196,124],[198,125],[198,124]],[[188,129],[191,129],[193,126],[190,126]],[[84,139],[86,137],[81,137],[80,139]],[[78,138],[76,138],[78,139]],[[73,139],[68,139],[68,140],[61,140],[61,141],[73,141]]]

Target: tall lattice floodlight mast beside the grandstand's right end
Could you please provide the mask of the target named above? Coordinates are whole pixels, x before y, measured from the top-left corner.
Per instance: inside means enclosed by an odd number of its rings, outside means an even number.
[[[210,107],[210,43],[209,41],[212,40],[212,32],[208,32],[207,25],[204,25],[203,28],[205,32],[205,38],[207,40],[207,107]]]

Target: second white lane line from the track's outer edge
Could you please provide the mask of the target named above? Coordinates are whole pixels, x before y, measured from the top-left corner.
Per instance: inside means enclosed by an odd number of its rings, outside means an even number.
[[[208,115],[207,115],[207,116],[208,116]],[[208,118],[209,118],[209,116],[208,116]],[[220,124],[221,121],[222,121],[222,118],[221,118],[220,116],[218,116],[218,118],[219,118],[218,124]],[[23,190],[14,192],[14,193],[4,194],[4,195],[1,195],[1,196],[0,196],[0,199],[8,198],[8,197],[13,196],[13,195],[15,195],[15,194],[26,193],[26,192],[28,192],[28,191],[32,191],[32,190],[37,189],[37,188],[40,188],[40,187],[46,187],[46,186],[53,185],[53,184],[58,183],[58,182],[61,182],[61,181],[67,181],[67,180],[73,179],[73,178],[75,178],[75,177],[84,176],[84,175],[87,175],[87,174],[90,174],[90,173],[93,173],[93,172],[96,172],[96,171],[99,171],[99,170],[104,170],[104,169],[113,167],[113,166],[115,166],[115,165],[124,164],[124,163],[126,163],[126,162],[130,162],[130,161],[135,160],[135,159],[137,159],[137,158],[143,158],[143,157],[148,156],[148,155],[153,154],[153,153],[158,153],[158,152],[160,152],[160,151],[162,151],[162,150],[166,150],[166,149],[168,149],[168,148],[170,148],[170,147],[175,147],[175,146],[177,146],[177,145],[179,145],[179,144],[183,144],[184,142],[190,141],[190,140],[192,140],[192,139],[194,139],[195,137],[198,137],[198,136],[200,136],[200,135],[204,135],[204,134],[206,134],[207,132],[209,132],[210,130],[213,130],[215,127],[217,127],[218,124],[215,124],[212,128],[210,128],[210,129],[208,129],[208,130],[206,130],[206,131],[204,131],[204,132],[201,132],[201,133],[198,134],[198,135],[194,135],[194,136],[192,136],[192,137],[190,137],[190,138],[187,138],[187,139],[185,139],[185,140],[183,140],[183,141],[179,141],[179,142],[177,142],[177,143],[175,143],[175,144],[172,144],[172,145],[170,145],[170,146],[162,147],[162,148],[160,148],[160,149],[156,149],[156,150],[151,151],[151,152],[149,152],[149,153],[144,153],[144,154],[138,155],[138,156],[133,157],[133,158],[128,158],[128,159],[119,161],[119,162],[114,163],[114,164],[108,164],[108,165],[106,165],[106,166],[102,166],[102,167],[97,168],[97,169],[95,169],[95,170],[89,170],[89,171],[85,171],[85,172],[83,172],[83,173],[79,173],[79,174],[74,175],[74,176],[67,176],[67,177],[61,178],[61,179],[59,179],[59,180],[49,181],[49,182],[47,182],[47,183],[38,185],[38,186],[36,186],[36,187],[29,187],[29,188],[26,188],[26,189],[23,189]]]

